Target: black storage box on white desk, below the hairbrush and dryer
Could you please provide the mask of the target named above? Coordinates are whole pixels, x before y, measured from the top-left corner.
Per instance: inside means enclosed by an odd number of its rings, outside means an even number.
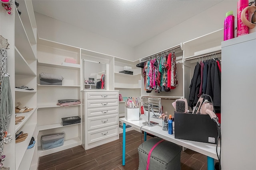
[[[203,143],[218,142],[217,124],[210,115],[174,111],[174,137]]]

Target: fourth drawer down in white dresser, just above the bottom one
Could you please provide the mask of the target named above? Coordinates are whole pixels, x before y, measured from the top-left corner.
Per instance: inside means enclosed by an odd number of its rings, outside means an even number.
[[[119,118],[118,114],[88,118],[88,121],[87,121],[88,130],[106,127],[109,125],[117,125],[119,122],[118,118]]]

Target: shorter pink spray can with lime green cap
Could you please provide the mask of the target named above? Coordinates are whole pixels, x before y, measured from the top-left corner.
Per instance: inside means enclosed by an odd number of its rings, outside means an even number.
[[[226,13],[226,18],[224,20],[224,36],[223,40],[232,39],[235,37],[235,17],[233,16],[233,11]]]

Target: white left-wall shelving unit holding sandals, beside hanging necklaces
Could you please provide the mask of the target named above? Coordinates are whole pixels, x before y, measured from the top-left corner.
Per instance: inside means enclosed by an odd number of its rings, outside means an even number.
[[[10,75],[10,88],[12,92],[13,114],[10,121],[8,133],[12,136],[12,142],[4,145],[3,154],[6,155],[2,162],[4,167],[12,170],[29,170],[37,166],[37,87],[36,87],[36,21],[31,0],[17,0],[19,16],[14,2],[12,3],[13,15],[6,13],[4,8],[0,8],[0,35],[8,39],[8,63],[7,72]],[[28,86],[34,90],[24,90],[15,88],[16,86]],[[33,108],[26,113],[15,113],[15,104],[20,102],[22,107]],[[25,118],[15,125],[15,115],[25,116]],[[28,133],[26,139],[20,143],[15,143],[15,134],[23,131]],[[31,149],[27,149],[31,138],[34,137],[36,144]]]

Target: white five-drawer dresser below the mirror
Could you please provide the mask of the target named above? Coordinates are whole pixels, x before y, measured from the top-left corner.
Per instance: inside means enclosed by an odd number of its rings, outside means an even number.
[[[119,139],[118,91],[84,91],[85,149]]]

